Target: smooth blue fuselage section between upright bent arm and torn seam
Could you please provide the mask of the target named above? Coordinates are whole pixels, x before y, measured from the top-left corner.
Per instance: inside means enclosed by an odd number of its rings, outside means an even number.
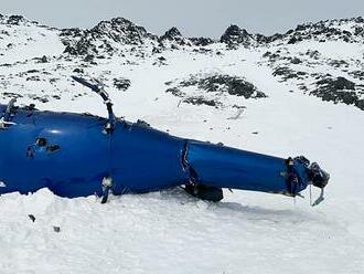
[[[117,124],[113,134],[113,178],[118,192],[146,192],[188,181],[183,139],[137,124]]]

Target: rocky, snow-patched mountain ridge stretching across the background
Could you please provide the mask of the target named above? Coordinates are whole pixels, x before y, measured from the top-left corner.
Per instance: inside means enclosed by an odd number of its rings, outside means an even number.
[[[229,75],[217,71],[226,62],[231,62],[229,65],[235,67],[240,63],[251,62],[256,67],[268,67],[271,76],[290,86],[289,91],[298,89],[323,101],[364,109],[363,44],[363,18],[299,24],[283,34],[271,36],[251,34],[232,24],[217,41],[208,38],[185,38],[176,28],[171,28],[158,36],[124,18],[101,21],[86,30],[58,30],[21,15],[0,15],[0,77],[3,89],[12,89],[22,83],[21,93],[25,97],[47,102],[49,98],[44,97],[62,97],[65,87],[58,83],[67,82],[72,73],[93,72],[95,76],[109,83],[119,83],[115,85],[118,88],[120,81],[125,81],[124,75],[120,75],[124,73],[120,72],[129,70],[128,67],[142,63],[156,67],[173,67],[176,56],[185,56],[192,60],[210,60],[208,62],[214,60],[214,70],[211,71],[207,66],[197,72],[199,75],[204,75],[204,81],[228,76],[243,77],[249,83],[244,74]],[[227,56],[232,54],[244,57],[228,61]],[[217,64],[218,60],[221,65]],[[114,68],[116,64],[119,64],[117,70]],[[38,68],[28,70],[34,66]],[[193,70],[186,65],[188,71]],[[183,82],[185,77],[186,75],[179,75],[178,82]],[[128,81],[132,86],[132,81]],[[34,82],[44,82],[41,95],[34,95],[33,87],[29,85]],[[205,102],[214,99],[211,98],[211,93],[199,89],[199,85],[194,88],[199,93],[194,94],[194,97],[203,97]],[[14,96],[12,94],[3,93],[2,98],[9,99]],[[226,96],[235,95],[233,92]],[[184,102],[193,101],[184,98]],[[234,104],[223,104],[217,99],[210,105],[222,107]]]

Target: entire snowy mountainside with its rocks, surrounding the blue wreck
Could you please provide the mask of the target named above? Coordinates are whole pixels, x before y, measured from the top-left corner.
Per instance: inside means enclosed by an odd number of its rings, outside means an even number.
[[[172,189],[105,205],[47,190],[6,194],[0,273],[364,272],[362,19],[270,38],[231,27],[222,41],[175,30],[158,38],[121,19],[90,30],[9,20],[0,17],[0,103],[18,97],[105,116],[100,99],[69,78],[89,75],[105,83],[118,116],[178,136],[304,155],[331,180],[318,208],[309,190],[304,200],[225,191],[211,203]]]

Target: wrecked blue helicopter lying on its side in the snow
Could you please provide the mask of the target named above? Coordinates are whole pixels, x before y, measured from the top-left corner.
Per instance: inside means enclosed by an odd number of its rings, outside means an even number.
[[[115,117],[99,84],[74,81],[99,94],[108,117],[0,105],[0,196],[49,188],[60,197],[142,193],[183,186],[190,194],[223,199],[223,188],[296,197],[323,189],[329,173],[304,157],[278,158],[170,136],[148,124]]]

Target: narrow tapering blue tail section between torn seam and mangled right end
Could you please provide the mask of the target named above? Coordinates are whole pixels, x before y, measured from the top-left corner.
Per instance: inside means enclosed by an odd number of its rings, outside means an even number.
[[[244,189],[274,193],[287,192],[286,159],[212,145],[189,143],[188,162],[203,185],[220,188]],[[296,161],[295,165],[301,166]],[[298,169],[300,185],[308,185],[306,169]]]

